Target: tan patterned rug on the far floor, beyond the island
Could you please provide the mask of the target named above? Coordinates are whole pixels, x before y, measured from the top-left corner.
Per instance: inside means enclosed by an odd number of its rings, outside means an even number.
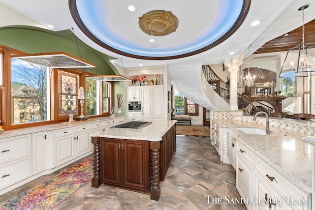
[[[176,125],[176,135],[185,136],[210,136],[210,128],[207,126]]]

